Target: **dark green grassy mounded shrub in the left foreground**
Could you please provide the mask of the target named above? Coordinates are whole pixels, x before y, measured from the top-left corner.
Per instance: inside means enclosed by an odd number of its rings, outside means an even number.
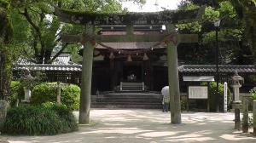
[[[19,106],[7,112],[5,134],[61,134],[78,129],[78,124],[66,106]]]

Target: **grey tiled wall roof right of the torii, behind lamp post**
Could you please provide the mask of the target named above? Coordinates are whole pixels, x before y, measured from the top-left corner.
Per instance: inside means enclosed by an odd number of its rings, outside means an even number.
[[[256,72],[255,66],[219,65],[219,72]],[[183,65],[179,72],[216,72],[216,65]]]

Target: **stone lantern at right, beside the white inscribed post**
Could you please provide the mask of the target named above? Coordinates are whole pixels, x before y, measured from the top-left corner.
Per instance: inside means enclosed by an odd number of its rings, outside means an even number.
[[[235,72],[234,76],[232,77],[232,87],[234,93],[233,103],[241,103],[240,95],[239,95],[239,88],[241,88],[241,84],[244,82],[243,77],[239,76],[237,72]]]

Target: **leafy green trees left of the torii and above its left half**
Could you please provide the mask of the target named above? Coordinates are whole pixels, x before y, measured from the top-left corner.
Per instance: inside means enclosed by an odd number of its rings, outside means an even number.
[[[144,0],[135,2],[143,3]],[[80,34],[83,31],[83,26],[61,24],[54,14],[54,7],[104,13],[122,10],[118,0],[12,0],[11,3],[15,8],[11,11],[15,26],[15,42],[23,49],[22,54],[26,54],[36,63],[51,63],[51,54],[61,53],[67,48],[69,43],[61,43],[62,32]]]

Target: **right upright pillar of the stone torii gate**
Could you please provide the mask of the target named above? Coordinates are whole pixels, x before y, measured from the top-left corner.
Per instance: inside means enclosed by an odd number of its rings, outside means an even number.
[[[175,27],[172,24],[168,24],[166,25],[166,31],[170,34],[175,34]],[[181,106],[177,72],[177,45],[175,45],[174,41],[167,43],[167,60],[171,106],[171,123],[180,124]]]

